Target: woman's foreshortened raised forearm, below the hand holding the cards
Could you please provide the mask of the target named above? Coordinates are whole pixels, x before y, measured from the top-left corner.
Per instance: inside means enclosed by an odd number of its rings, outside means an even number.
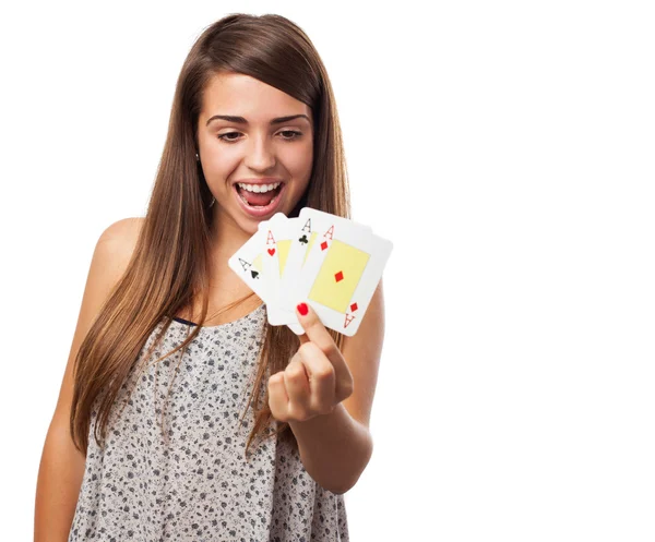
[[[340,402],[330,414],[289,421],[305,470],[322,487],[337,494],[350,490],[368,465],[371,434]]]

